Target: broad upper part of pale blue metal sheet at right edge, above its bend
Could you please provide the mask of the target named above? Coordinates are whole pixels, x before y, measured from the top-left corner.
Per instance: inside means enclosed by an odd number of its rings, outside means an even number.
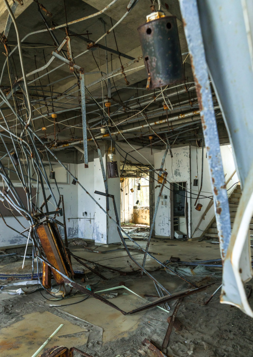
[[[242,3],[198,0],[210,75],[244,185],[253,163],[253,69]]]

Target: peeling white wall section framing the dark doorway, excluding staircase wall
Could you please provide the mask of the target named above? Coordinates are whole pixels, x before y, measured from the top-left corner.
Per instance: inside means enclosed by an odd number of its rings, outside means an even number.
[[[164,151],[154,154],[155,168],[158,169],[161,165]],[[187,187],[190,187],[190,147],[184,146],[181,148],[172,149],[173,158],[168,153],[165,159],[164,169],[167,170],[166,187],[163,188],[162,195],[167,195],[167,199],[160,200],[156,219],[155,219],[155,235],[162,237],[170,237],[171,224],[170,222],[170,190],[169,183],[171,182],[187,182]],[[155,174],[157,179],[157,175]],[[159,183],[155,181],[155,203],[160,191]],[[190,234],[190,198],[187,199],[189,207],[189,234]],[[162,204],[163,202],[163,204]],[[182,228],[184,222],[182,222]],[[183,229],[182,229],[183,230]],[[173,237],[171,237],[173,238]]]

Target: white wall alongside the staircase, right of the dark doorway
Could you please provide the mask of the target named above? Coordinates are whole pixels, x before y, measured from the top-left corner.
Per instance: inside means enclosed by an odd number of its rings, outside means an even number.
[[[228,181],[228,179],[231,177],[231,175],[234,173],[236,170],[235,166],[235,161],[234,157],[232,154],[232,149],[230,145],[224,145],[220,147],[221,149],[221,155],[222,155],[222,163],[223,163],[223,168],[224,168],[224,175],[225,175],[225,182]],[[198,172],[197,172],[197,163],[198,163]],[[201,165],[202,165],[202,148],[196,148],[192,147],[191,149],[191,174],[192,174],[192,234],[193,238],[200,237],[203,231],[206,230],[210,222],[213,220],[215,216],[214,212],[214,205],[209,209],[207,214],[205,215],[205,219],[201,221],[201,224],[199,226],[199,229],[195,229],[198,225],[198,223],[201,220],[201,217],[203,216],[203,213],[205,212],[210,199],[204,198],[200,199],[199,202],[203,205],[201,211],[197,211],[195,209],[194,203],[196,200],[196,195],[193,193],[198,193],[198,187],[193,186],[193,179],[198,178],[199,180],[199,187],[200,187],[200,181],[201,181]],[[206,149],[204,148],[204,160],[203,160],[203,185],[202,185],[202,195],[206,196],[212,196],[212,188],[211,188],[211,178],[209,175],[209,169],[208,169],[208,162],[206,158]],[[238,182],[239,178],[237,173],[233,176],[233,178],[227,183],[227,189],[230,188],[231,186],[234,185],[234,183]],[[236,186],[236,185],[235,185]],[[230,194],[231,191],[235,188],[233,186],[230,190],[228,190],[228,194]],[[195,197],[195,199],[194,199]]]

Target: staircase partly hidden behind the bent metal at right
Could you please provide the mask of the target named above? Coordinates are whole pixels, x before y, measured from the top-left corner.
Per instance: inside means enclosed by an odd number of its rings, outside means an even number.
[[[229,197],[229,210],[230,210],[230,219],[231,219],[231,227],[232,228],[233,228],[233,225],[235,222],[237,207],[238,207],[238,203],[240,201],[241,196],[242,196],[241,185],[238,184],[236,186],[236,188],[234,189],[233,193]],[[237,203],[237,204],[235,204],[235,203]],[[250,235],[251,235],[251,237],[253,237],[253,218],[252,218],[251,224],[250,224]],[[213,224],[205,232],[205,237],[219,238],[218,230],[217,230],[217,223],[215,220],[214,220]]]

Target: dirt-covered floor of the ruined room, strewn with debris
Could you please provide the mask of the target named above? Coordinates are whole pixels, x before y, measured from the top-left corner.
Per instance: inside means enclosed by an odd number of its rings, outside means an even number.
[[[145,239],[141,240],[138,237],[137,242],[145,247]],[[133,247],[130,241],[127,245]],[[80,257],[105,266],[131,270],[127,263],[131,261],[121,245],[95,247],[92,243],[88,243],[87,247],[94,249],[94,252],[85,249],[84,242],[81,240],[70,246],[71,251]],[[149,250],[161,262],[169,260],[171,256],[187,262],[220,258],[219,246],[208,241],[152,239]],[[23,255],[24,248],[6,251],[6,253],[11,252]],[[29,248],[28,255],[30,252]],[[142,254],[136,250],[130,252],[136,261],[142,262]],[[6,257],[5,260],[1,260],[0,274],[6,271],[8,265],[11,265],[9,266],[11,271],[16,267],[20,272],[22,259],[9,256],[8,259]],[[74,260],[72,262],[77,263]],[[137,268],[133,262],[131,265],[134,269]],[[26,259],[25,266],[29,270],[31,259]],[[149,271],[158,267],[155,261],[147,258],[146,268]],[[80,266],[76,268],[80,269]],[[253,319],[235,307],[220,304],[219,292],[209,304],[203,304],[221,284],[221,269],[201,266],[186,268],[179,267],[177,264],[171,265],[171,268],[180,271],[191,282],[199,282],[199,285],[211,282],[214,284],[203,292],[183,299],[177,314],[181,330],[177,331],[173,328],[166,355],[168,357],[253,356]],[[143,299],[149,301],[154,299],[144,295],[157,296],[153,281],[145,275],[141,278],[138,273],[120,275],[104,269],[100,272],[108,279],[104,280],[85,269],[83,284],[91,285],[95,292],[125,284],[139,297],[123,287],[102,293],[125,311],[144,305]],[[191,287],[186,281],[164,269],[152,274],[170,293]],[[1,285],[6,283],[6,280],[0,281]],[[247,283],[249,292],[252,285],[252,282]],[[176,301],[169,302],[171,310],[167,312],[154,307],[124,316],[112,307],[94,298],[86,297],[77,294],[69,299],[56,300],[55,296],[49,295],[44,290],[22,295],[0,293],[0,356],[32,356],[61,323],[64,326],[49,342],[46,349],[53,346],[68,348],[74,346],[94,357],[154,356],[141,344],[144,339],[148,339],[161,349],[168,327],[167,318],[172,315]],[[253,296],[249,297],[249,302],[253,306]]]

